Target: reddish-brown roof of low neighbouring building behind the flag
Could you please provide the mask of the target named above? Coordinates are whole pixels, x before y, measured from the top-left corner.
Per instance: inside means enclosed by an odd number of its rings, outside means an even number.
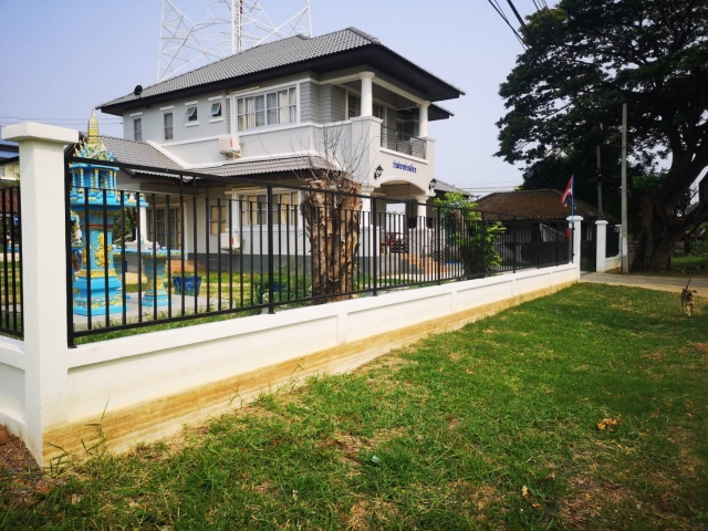
[[[506,214],[520,218],[565,219],[571,215],[571,204],[561,205],[560,190],[518,190],[490,194],[477,201],[477,210]],[[575,216],[596,219],[597,209],[575,199]]]

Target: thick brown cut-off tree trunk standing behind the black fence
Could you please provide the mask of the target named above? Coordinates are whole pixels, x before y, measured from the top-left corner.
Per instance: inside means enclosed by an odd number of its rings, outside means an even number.
[[[330,184],[336,185],[334,191]],[[362,199],[337,192],[361,194],[361,184],[347,178],[311,181],[324,191],[306,191],[300,206],[312,252],[312,295],[315,304],[352,299],[358,253]]]

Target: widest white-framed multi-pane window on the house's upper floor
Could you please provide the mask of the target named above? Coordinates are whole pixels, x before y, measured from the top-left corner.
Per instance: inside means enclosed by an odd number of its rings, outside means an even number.
[[[239,131],[266,125],[298,122],[298,92],[295,87],[239,97],[236,102]]]

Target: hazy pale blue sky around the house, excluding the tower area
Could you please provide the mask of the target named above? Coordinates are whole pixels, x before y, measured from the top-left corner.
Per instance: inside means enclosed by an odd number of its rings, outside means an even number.
[[[208,0],[174,0],[197,18]],[[273,14],[298,0],[261,0]],[[503,2],[501,2],[503,3]],[[514,0],[522,15],[533,0]],[[512,189],[519,167],[493,157],[498,95],[522,49],[486,0],[312,0],[313,34],[356,27],[462,88],[433,122],[437,178],[476,192]],[[507,9],[510,14],[509,9]],[[0,127],[43,122],[85,131],[91,110],[157,77],[162,0],[0,0]],[[102,134],[121,119],[97,114]]]

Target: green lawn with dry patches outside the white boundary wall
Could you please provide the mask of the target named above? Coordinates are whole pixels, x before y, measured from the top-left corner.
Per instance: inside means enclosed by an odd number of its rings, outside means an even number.
[[[579,284],[98,451],[0,529],[704,529],[707,324],[705,300]]]

